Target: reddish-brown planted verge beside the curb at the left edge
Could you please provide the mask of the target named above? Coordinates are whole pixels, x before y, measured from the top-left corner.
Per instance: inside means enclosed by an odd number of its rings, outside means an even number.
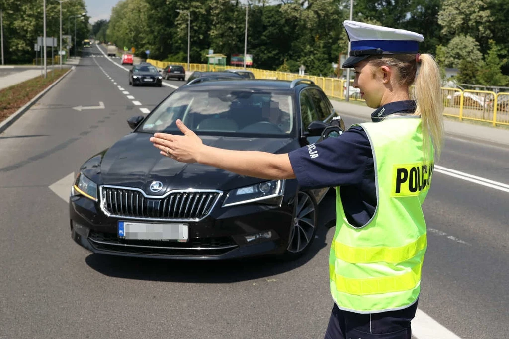
[[[13,115],[19,108],[44,91],[53,81],[61,77],[68,70],[68,68],[51,70],[46,78],[40,75],[1,90],[0,122]]]

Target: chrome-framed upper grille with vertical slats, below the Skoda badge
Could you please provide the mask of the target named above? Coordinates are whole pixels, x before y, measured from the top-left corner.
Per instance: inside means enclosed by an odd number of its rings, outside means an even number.
[[[157,220],[199,220],[206,217],[219,191],[175,191],[147,197],[142,191],[101,187],[101,208],[110,216]]]

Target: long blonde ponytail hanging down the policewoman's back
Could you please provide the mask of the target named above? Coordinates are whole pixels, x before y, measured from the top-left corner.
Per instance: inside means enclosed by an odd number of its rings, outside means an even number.
[[[440,89],[440,71],[430,54],[420,54],[420,69],[415,79],[412,97],[417,103],[415,115],[420,116],[425,158],[433,148],[437,159],[443,144],[443,106]]]

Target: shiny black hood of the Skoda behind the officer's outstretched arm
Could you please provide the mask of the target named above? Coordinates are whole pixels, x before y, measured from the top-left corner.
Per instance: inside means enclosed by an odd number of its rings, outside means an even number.
[[[189,188],[225,191],[264,181],[162,156],[149,141],[150,136],[137,132],[124,136],[109,149],[90,158],[81,167],[82,173],[99,185],[134,187],[150,195]],[[298,147],[292,138],[202,136],[202,139],[205,145],[231,150],[282,153]],[[163,185],[158,193],[149,189],[153,181],[160,181]]]

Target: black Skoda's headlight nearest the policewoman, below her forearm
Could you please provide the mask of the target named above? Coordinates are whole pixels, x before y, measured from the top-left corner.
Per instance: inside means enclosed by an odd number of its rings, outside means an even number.
[[[285,180],[266,181],[256,185],[231,190],[222,207],[259,202],[262,204],[281,205]]]

